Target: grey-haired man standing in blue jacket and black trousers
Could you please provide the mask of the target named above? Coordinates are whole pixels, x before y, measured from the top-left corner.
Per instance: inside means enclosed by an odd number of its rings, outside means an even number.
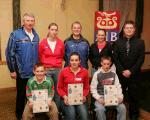
[[[33,66],[38,62],[39,36],[33,29],[35,18],[33,14],[25,13],[23,26],[10,34],[6,61],[10,76],[16,79],[16,117],[22,119],[26,98],[26,84],[33,75]]]

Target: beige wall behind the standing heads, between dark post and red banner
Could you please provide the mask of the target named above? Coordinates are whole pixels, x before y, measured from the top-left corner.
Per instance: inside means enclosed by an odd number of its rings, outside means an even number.
[[[21,0],[21,13],[32,12],[36,17],[36,30],[42,39],[47,35],[49,23],[59,25],[59,36],[63,40],[70,35],[70,26],[74,21],[80,21],[83,35],[93,39],[94,11],[98,9],[98,0]],[[36,5],[33,6],[33,3]]]

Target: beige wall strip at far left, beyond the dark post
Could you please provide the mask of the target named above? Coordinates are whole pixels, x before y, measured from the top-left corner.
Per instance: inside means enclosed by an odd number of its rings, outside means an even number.
[[[8,35],[12,31],[12,0],[0,0],[0,42],[2,60],[5,60],[5,48]],[[0,88],[12,87],[15,80],[9,76],[6,65],[0,65]]]

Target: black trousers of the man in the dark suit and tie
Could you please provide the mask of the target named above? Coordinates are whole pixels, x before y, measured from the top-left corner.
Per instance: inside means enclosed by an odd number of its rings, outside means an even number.
[[[118,75],[122,91],[124,94],[124,100],[129,104],[129,117],[139,117],[139,80],[140,76],[132,75],[130,78],[126,78],[122,75]]]

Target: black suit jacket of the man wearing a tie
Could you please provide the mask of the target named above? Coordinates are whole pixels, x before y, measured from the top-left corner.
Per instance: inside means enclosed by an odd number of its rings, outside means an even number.
[[[132,74],[138,73],[144,62],[145,45],[144,41],[136,37],[129,39],[130,50],[127,54],[127,38],[121,38],[114,44],[114,62],[117,72],[120,74],[124,70],[130,70]]]

